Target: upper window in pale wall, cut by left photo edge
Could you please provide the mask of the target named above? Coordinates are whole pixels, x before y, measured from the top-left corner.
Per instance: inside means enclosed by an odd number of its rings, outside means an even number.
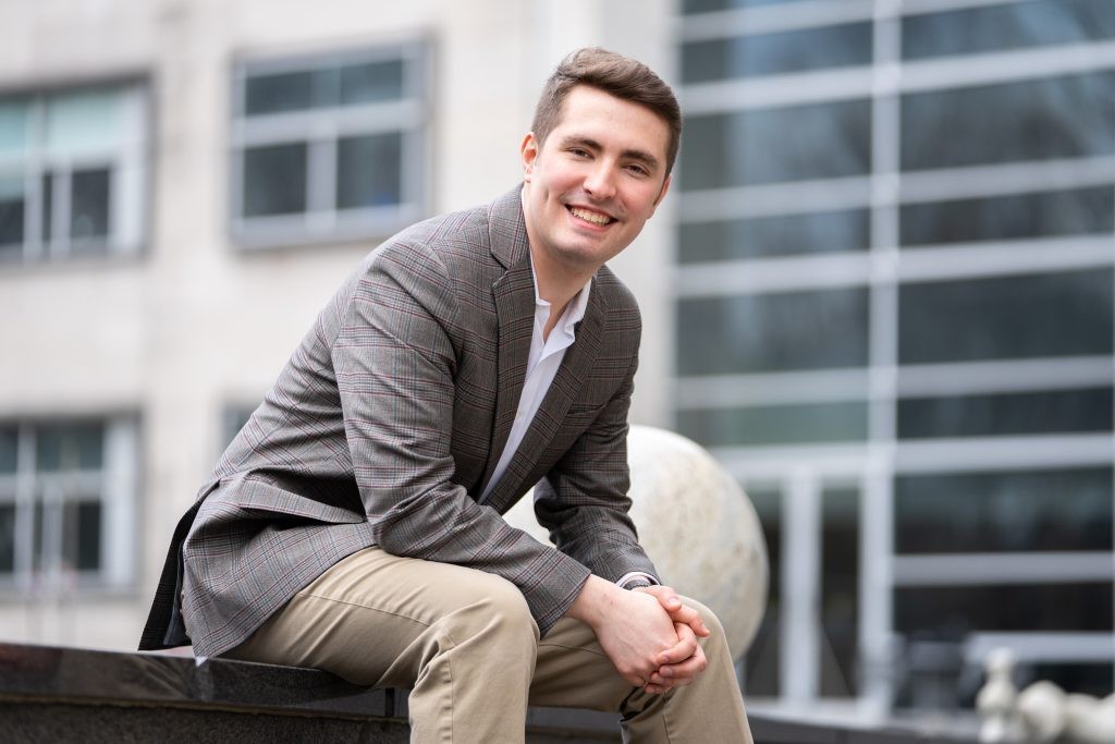
[[[0,261],[138,251],[146,116],[138,85],[0,97]]]

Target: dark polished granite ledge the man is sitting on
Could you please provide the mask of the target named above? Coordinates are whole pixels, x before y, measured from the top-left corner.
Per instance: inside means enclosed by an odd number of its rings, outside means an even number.
[[[0,642],[0,731],[19,742],[407,742],[407,690],[318,669]],[[969,744],[750,716],[757,744]],[[619,742],[615,716],[531,708],[527,742]],[[972,743],[973,744],[973,743]]]

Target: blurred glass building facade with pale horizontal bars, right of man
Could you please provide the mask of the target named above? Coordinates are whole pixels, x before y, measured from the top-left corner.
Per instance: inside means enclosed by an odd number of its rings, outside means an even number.
[[[753,702],[1113,688],[1115,3],[685,0],[679,431],[764,523]]]

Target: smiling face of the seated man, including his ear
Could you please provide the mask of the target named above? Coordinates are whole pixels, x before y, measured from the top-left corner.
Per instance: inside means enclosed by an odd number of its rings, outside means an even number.
[[[593,273],[627,248],[666,195],[669,136],[649,108],[589,86],[570,90],[541,148],[533,133],[523,139],[523,211],[535,260]]]

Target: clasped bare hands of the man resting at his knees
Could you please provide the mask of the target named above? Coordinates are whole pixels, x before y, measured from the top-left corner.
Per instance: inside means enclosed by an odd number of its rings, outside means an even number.
[[[628,591],[590,577],[570,613],[592,626],[620,676],[652,695],[692,684],[708,666],[697,638],[709,630],[669,587]]]

